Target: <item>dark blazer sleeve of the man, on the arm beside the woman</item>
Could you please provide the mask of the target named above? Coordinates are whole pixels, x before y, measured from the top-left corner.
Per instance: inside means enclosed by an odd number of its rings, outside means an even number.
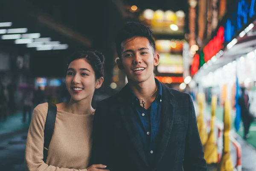
[[[92,154],[90,159],[90,165],[93,164],[103,164],[108,167],[108,146],[107,146],[107,131],[104,119],[104,104],[99,103],[96,108],[93,120],[93,145]]]

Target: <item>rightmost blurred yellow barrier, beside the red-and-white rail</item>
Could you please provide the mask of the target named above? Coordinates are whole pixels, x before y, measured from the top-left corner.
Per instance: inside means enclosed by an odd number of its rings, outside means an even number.
[[[233,171],[233,164],[230,157],[230,128],[231,128],[231,107],[230,102],[224,103],[224,130],[223,130],[223,154],[221,157],[220,171]]]

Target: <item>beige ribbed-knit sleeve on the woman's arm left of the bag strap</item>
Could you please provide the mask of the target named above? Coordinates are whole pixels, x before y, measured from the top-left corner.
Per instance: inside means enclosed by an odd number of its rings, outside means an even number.
[[[44,124],[47,110],[48,104],[44,103],[39,104],[33,111],[26,142],[25,171],[87,171],[87,169],[59,168],[44,163]],[[58,156],[56,156],[55,159],[58,160]]]

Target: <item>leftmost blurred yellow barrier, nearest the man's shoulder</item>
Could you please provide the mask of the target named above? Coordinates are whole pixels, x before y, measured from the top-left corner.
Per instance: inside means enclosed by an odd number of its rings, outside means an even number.
[[[200,136],[202,145],[205,145],[208,139],[208,135],[206,132],[206,124],[204,122],[204,103],[205,103],[204,94],[198,94],[197,100],[198,100],[198,107],[199,107],[198,109],[199,114],[197,118],[198,131],[199,131],[199,136]]]

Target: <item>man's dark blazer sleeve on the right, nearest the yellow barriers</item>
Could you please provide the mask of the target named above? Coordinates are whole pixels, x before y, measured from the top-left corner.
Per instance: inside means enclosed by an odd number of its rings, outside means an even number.
[[[184,171],[207,171],[204,151],[197,127],[195,108],[191,97],[189,98],[189,124],[186,134],[184,154]]]

